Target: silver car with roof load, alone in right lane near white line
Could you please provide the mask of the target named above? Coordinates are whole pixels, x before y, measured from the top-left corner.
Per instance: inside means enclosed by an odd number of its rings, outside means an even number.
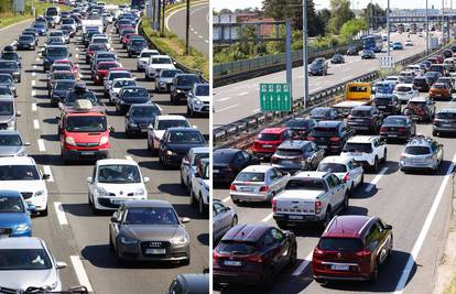
[[[431,170],[436,172],[444,159],[443,144],[430,137],[416,135],[405,145],[399,167],[410,170]]]

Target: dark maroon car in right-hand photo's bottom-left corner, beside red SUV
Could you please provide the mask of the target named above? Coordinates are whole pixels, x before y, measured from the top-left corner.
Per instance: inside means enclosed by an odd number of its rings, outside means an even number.
[[[275,275],[296,263],[296,236],[268,225],[238,225],[227,231],[213,252],[215,287],[256,284],[270,287]]]

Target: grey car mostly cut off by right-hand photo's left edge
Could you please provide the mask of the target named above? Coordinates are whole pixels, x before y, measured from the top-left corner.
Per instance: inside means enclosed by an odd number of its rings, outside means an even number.
[[[238,225],[236,210],[218,199],[213,200],[213,240],[220,240],[224,235]]]

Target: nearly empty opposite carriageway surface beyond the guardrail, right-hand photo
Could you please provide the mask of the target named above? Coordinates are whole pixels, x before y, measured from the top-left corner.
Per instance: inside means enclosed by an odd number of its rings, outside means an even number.
[[[401,41],[403,44],[408,39],[406,34],[393,33],[392,41]],[[403,51],[391,51],[394,61],[399,62],[425,50],[425,37],[411,35],[414,46],[404,47]],[[345,56],[346,63],[341,65],[329,64],[327,76],[311,76],[310,92],[316,92],[343,81],[352,79],[356,76],[376,70],[379,68],[379,56],[386,53],[376,54],[376,59],[362,61],[360,56]],[[303,67],[293,68],[293,97],[303,97]],[[248,80],[214,89],[214,126],[221,126],[260,112],[260,83],[284,83],[285,72],[279,72]]]

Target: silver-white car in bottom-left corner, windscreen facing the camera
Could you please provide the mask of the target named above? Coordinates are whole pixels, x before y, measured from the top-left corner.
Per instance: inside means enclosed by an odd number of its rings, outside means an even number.
[[[62,291],[59,270],[45,242],[36,237],[0,238],[0,285],[22,293],[30,286]]]

